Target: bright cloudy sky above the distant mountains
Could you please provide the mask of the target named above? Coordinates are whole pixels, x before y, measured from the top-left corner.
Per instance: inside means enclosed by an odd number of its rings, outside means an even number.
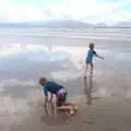
[[[0,23],[74,20],[131,22],[131,0],[0,0]]]

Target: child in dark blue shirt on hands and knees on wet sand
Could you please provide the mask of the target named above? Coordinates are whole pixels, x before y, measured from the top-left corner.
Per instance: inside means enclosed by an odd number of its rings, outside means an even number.
[[[57,109],[60,110],[69,110],[69,112],[72,115],[78,109],[76,106],[74,106],[71,103],[67,103],[67,90],[55,82],[47,81],[46,78],[39,79],[39,84],[44,86],[44,94],[45,94],[45,106],[47,106],[48,103],[48,92],[51,94],[50,100],[52,102],[52,95],[56,95],[57,97]]]

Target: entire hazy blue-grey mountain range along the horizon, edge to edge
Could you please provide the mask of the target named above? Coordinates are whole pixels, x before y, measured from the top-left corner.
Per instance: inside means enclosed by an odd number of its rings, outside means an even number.
[[[80,21],[46,21],[26,23],[0,23],[0,27],[47,27],[47,28],[81,28],[81,27],[131,27],[131,22],[119,22],[108,26],[105,23],[91,24]]]

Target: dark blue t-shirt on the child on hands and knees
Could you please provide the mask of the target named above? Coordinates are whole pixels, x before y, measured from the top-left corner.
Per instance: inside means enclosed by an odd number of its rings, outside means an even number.
[[[48,92],[50,92],[51,94],[57,94],[59,92],[59,90],[63,88],[62,85],[59,85],[55,82],[47,82],[45,85],[44,85],[44,94],[45,96],[48,95]]]

